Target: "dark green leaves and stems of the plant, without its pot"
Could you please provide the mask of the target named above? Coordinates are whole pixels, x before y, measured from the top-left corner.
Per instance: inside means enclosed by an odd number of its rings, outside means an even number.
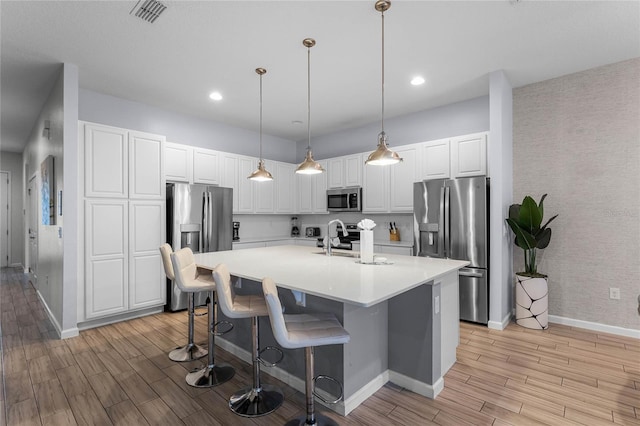
[[[547,226],[558,217],[555,215],[540,226],[544,217],[543,202],[546,197],[547,194],[544,194],[540,198],[540,203],[536,204],[535,200],[527,195],[522,200],[522,204],[512,204],[509,207],[507,224],[516,235],[515,244],[524,250],[525,271],[519,272],[521,275],[546,277],[546,275],[538,273],[536,250],[546,248],[549,245],[551,229]]]

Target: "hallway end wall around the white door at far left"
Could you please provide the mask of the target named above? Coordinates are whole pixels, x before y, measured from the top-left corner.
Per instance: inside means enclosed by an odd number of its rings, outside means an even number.
[[[22,154],[2,152],[0,154],[0,170],[11,173],[11,217],[9,217],[11,252],[9,253],[9,265],[24,266],[24,223],[22,214],[24,169],[22,168]]]

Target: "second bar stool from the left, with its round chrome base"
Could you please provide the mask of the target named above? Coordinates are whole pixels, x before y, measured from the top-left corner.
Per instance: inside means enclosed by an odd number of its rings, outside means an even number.
[[[208,388],[217,386],[231,379],[235,370],[230,365],[216,365],[213,359],[215,344],[216,326],[216,283],[209,274],[200,274],[196,266],[193,252],[185,247],[171,255],[171,264],[176,278],[176,284],[180,290],[188,293],[208,291],[209,292],[209,350],[208,363],[200,370],[187,374],[186,381],[190,386],[198,388]]]

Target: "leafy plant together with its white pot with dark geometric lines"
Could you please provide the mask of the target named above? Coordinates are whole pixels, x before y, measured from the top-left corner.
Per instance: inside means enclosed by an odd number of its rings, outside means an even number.
[[[546,330],[549,327],[547,276],[538,272],[537,250],[549,245],[551,229],[549,223],[542,225],[543,202],[547,194],[536,204],[530,196],[525,196],[522,204],[509,207],[507,224],[516,236],[515,244],[524,250],[523,272],[516,273],[516,323],[527,328]]]

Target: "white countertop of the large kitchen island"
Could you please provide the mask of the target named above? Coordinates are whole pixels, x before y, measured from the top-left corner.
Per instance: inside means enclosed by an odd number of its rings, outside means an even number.
[[[373,306],[469,264],[467,261],[388,255],[392,264],[363,265],[358,259],[326,256],[317,247],[276,246],[195,255],[214,268],[225,263],[232,275],[358,306]]]

